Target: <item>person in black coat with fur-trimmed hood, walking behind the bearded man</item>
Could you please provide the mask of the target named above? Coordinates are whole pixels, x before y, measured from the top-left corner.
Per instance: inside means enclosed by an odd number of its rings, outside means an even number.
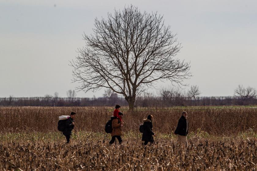
[[[153,133],[153,124],[152,124],[152,115],[148,115],[147,119],[143,119],[144,122],[144,129],[143,129],[143,134],[142,134],[142,141],[144,141],[144,145],[147,145],[148,142],[150,144],[154,143],[154,138],[153,136],[156,136],[155,133]]]

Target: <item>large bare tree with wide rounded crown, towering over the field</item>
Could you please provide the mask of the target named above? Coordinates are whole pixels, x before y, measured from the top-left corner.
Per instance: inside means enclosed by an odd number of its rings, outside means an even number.
[[[163,16],[140,12],[134,6],[95,19],[92,35],[83,36],[86,46],[70,63],[77,89],[109,88],[124,96],[133,110],[136,96],[156,81],[183,85],[191,76],[190,64],[175,58],[181,49],[176,34],[165,26]]]

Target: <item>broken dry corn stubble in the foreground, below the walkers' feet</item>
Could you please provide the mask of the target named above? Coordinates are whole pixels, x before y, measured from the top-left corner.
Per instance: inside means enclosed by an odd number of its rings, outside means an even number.
[[[1,170],[256,170],[257,143],[9,143],[0,147]]]

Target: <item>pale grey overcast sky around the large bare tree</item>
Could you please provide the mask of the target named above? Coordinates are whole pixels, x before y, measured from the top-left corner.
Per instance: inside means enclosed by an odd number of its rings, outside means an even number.
[[[0,0],[0,97],[65,97],[78,85],[68,64],[85,44],[82,34],[92,33],[95,17],[130,4],[164,15],[183,46],[177,57],[191,62],[185,83],[199,85],[202,96],[233,95],[238,84],[257,88],[256,0]]]

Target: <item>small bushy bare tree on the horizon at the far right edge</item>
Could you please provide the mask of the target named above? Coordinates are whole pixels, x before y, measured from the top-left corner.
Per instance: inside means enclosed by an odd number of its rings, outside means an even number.
[[[243,85],[238,85],[234,90],[234,96],[242,97],[244,99],[255,98],[257,96],[257,91],[255,88],[250,86],[244,88]]]

